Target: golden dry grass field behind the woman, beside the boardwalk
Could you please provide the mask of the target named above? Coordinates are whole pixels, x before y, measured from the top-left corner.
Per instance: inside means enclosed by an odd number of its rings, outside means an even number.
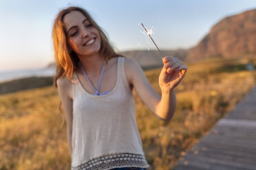
[[[160,69],[146,72],[158,93],[159,73]],[[235,60],[190,64],[175,89],[177,110],[169,123],[160,121],[134,93],[138,128],[151,169],[171,169],[255,86],[255,79],[255,71],[246,71]],[[0,96],[1,170],[70,169],[65,117],[58,104],[53,86]]]

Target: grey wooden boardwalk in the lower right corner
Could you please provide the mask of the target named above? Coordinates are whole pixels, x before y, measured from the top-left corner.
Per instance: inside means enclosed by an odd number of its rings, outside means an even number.
[[[256,86],[174,169],[256,170]]]

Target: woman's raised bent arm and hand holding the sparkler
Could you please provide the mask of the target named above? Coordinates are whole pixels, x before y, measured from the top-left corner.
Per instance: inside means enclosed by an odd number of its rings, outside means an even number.
[[[127,80],[130,82],[142,101],[164,121],[170,121],[176,109],[176,97],[174,88],[178,86],[186,73],[187,66],[178,58],[167,56],[163,58],[164,66],[159,76],[159,85],[162,96],[153,89],[145,73],[137,62],[131,59],[125,60]]]

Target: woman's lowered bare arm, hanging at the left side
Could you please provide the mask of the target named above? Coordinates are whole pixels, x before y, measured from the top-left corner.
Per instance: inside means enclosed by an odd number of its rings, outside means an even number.
[[[65,119],[67,123],[67,143],[70,150],[70,157],[72,158],[72,125],[73,125],[73,100],[72,100],[72,86],[65,77],[57,80],[58,96],[61,99]]]

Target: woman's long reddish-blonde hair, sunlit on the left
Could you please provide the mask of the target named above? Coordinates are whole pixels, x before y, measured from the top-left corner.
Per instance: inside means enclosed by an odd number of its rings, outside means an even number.
[[[111,47],[107,36],[103,32],[103,29],[97,25],[97,23],[92,19],[92,16],[90,16],[86,10],[74,6],[65,8],[64,10],[58,12],[52,27],[54,57],[56,61],[56,77],[54,78],[54,85],[56,87],[56,81],[58,78],[66,76],[67,80],[72,80],[72,75],[78,66],[79,59],[78,56],[76,56],[76,53],[74,53],[74,51],[69,53],[67,44],[67,32],[63,23],[64,16],[72,11],[81,12],[87,19],[89,19],[92,25],[96,27],[101,38],[99,53],[101,56],[103,56],[103,58],[105,58],[106,62],[110,58],[120,56],[114,51],[113,47]]]

